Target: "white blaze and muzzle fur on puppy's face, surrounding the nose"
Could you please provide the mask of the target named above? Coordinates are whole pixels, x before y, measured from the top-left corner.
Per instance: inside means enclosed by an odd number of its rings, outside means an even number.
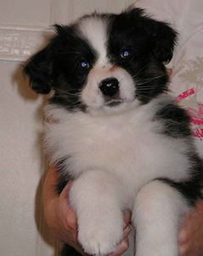
[[[116,67],[111,71],[112,64],[107,57],[106,35],[108,20],[102,20],[99,17],[83,19],[79,24],[79,30],[83,37],[93,47],[98,55],[98,60],[94,64],[87,77],[87,84],[82,90],[82,102],[88,106],[88,111],[101,111],[101,108],[108,109],[104,106],[104,96],[99,90],[99,84],[102,80],[116,78],[119,82],[119,93],[121,101],[133,102],[134,100],[134,82],[126,70]],[[125,105],[122,105],[125,107]],[[125,107],[126,108],[126,107]],[[119,108],[120,111],[120,108]]]

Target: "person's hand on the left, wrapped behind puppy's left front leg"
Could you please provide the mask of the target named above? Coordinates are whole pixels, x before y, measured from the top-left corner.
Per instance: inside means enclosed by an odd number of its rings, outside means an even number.
[[[74,247],[79,253],[87,255],[83,252],[77,240],[76,212],[70,207],[67,198],[71,183],[65,186],[65,189],[63,189],[60,195],[56,193],[56,183],[57,171],[54,167],[51,167],[47,173],[42,189],[43,211],[48,227],[59,240]],[[130,233],[129,221],[130,212],[125,212],[123,240],[117,245],[116,252],[110,253],[109,256],[119,256],[127,250],[127,236]]]

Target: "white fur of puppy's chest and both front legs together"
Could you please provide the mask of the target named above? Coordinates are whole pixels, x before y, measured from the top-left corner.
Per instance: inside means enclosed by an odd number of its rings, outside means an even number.
[[[122,236],[121,211],[128,207],[134,209],[134,224],[140,225],[136,256],[178,255],[178,218],[186,204],[175,189],[151,183],[156,177],[176,181],[189,177],[189,160],[183,156],[188,143],[161,136],[157,132],[161,124],[152,121],[171,100],[161,95],[146,105],[132,103],[118,113],[98,115],[47,108],[48,117],[55,120],[48,125],[47,148],[53,162],[67,157],[66,172],[76,177],[70,204],[87,253],[105,255],[114,250]]]

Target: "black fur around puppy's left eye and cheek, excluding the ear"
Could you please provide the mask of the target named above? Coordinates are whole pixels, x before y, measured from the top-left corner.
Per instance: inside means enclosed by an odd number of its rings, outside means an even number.
[[[86,106],[80,99],[80,92],[87,82],[87,74],[97,60],[96,52],[77,32],[76,26],[57,26],[53,50],[54,61],[54,97],[50,103],[61,105],[69,110]],[[87,61],[89,67],[82,67]]]

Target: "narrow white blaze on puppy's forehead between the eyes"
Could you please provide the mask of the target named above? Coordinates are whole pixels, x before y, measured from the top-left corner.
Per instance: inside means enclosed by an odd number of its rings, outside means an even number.
[[[94,67],[110,66],[106,49],[108,23],[107,19],[93,16],[84,18],[79,24],[82,36],[87,39],[88,43],[98,54],[98,60]]]

